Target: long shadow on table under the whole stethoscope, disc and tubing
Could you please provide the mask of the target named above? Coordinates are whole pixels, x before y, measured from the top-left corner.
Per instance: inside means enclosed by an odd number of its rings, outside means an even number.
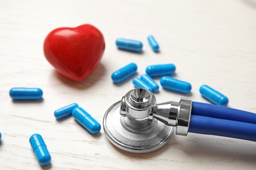
[[[118,152],[127,156],[127,158],[136,158],[137,160],[159,160],[160,154],[167,156],[161,161],[179,161],[181,163],[190,163],[198,161],[198,164],[208,165],[209,163],[232,163],[238,161],[241,163],[256,163],[256,147],[251,141],[241,141],[239,139],[230,139],[225,137],[177,137],[175,134],[169,142],[159,150],[154,152],[137,154],[126,152],[116,148]],[[179,155],[177,155],[179,154]],[[184,156],[183,156],[184,155]],[[157,158],[158,157],[158,158]],[[184,160],[181,160],[184,158]]]

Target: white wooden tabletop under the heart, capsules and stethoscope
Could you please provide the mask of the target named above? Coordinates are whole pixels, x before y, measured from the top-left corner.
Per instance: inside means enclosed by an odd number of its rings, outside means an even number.
[[[91,135],[71,116],[53,112],[70,103],[100,124],[104,113],[133,89],[131,78],[114,84],[111,74],[135,62],[137,75],[148,65],[174,63],[175,78],[192,84],[188,95],[160,88],[159,102],[189,97],[208,84],[228,96],[228,107],[256,112],[256,1],[0,1],[0,169],[255,169],[256,143],[211,135],[173,135],[166,146],[132,154],[113,146],[103,129]],[[46,35],[57,27],[95,25],[106,50],[83,82],[56,71],[43,55]],[[154,35],[160,53],[146,37]],[[118,50],[118,37],[144,44],[143,53]],[[133,76],[134,77],[134,76]],[[159,78],[156,79],[159,83]],[[12,87],[37,87],[43,101],[12,101]],[[41,167],[28,141],[45,139],[51,165]]]

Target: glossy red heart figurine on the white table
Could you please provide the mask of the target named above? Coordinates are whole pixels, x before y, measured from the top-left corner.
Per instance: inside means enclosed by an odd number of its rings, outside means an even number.
[[[82,81],[100,63],[105,42],[93,25],[60,27],[47,35],[43,45],[45,58],[62,75]]]

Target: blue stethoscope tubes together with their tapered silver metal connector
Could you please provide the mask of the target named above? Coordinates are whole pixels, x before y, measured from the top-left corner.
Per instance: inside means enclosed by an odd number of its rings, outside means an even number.
[[[253,112],[194,101],[182,104],[186,100],[189,101],[181,98],[180,102],[155,105],[149,120],[156,118],[168,126],[176,126],[177,135],[191,132],[256,141],[256,114]]]

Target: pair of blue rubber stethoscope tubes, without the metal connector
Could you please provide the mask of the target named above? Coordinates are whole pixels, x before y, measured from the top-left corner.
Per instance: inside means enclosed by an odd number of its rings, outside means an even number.
[[[256,114],[244,110],[192,103],[188,132],[256,141]]]

